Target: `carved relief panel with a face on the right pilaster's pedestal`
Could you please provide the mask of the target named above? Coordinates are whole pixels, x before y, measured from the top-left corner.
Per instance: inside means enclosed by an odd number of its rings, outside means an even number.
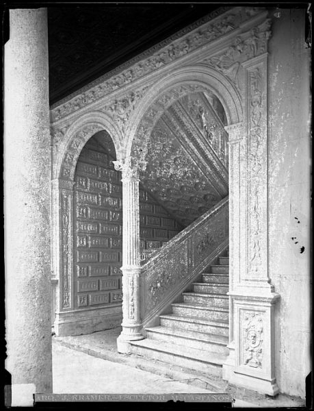
[[[263,368],[263,312],[241,310],[241,364]]]

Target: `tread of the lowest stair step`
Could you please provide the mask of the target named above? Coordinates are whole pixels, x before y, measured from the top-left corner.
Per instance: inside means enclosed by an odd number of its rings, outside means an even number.
[[[209,362],[211,364],[222,365],[226,360],[226,356],[219,353],[212,353],[210,351],[201,351],[196,348],[189,348],[188,350],[183,345],[176,345],[174,343],[165,343],[164,341],[152,340],[145,338],[144,340],[130,341],[131,345],[137,347],[144,347],[148,349],[155,349],[168,354],[189,358],[190,360],[198,360],[202,362]]]

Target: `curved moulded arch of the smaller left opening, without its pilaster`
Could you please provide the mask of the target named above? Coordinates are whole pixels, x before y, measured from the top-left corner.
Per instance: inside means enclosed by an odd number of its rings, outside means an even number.
[[[114,142],[117,160],[121,156],[122,136],[112,119],[103,112],[90,112],[75,121],[64,134],[55,155],[53,178],[73,181],[75,167],[81,149],[86,142],[101,130],[108,132]]]

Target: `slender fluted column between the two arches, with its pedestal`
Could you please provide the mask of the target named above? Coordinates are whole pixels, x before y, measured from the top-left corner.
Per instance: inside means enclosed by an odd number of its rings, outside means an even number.
[[[122,171],[122,333],[117,345],[120,353],[129,353],[129,341],[142,340],[140,319],[140,199],[138,166],[127,158],[114,162]]]

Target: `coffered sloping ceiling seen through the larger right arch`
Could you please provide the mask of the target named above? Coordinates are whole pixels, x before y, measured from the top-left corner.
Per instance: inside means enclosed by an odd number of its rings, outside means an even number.
[[[143,186],[183,226],[228,195],[228,135],[222,105],[195,92],[174,102],[148,143]]]

